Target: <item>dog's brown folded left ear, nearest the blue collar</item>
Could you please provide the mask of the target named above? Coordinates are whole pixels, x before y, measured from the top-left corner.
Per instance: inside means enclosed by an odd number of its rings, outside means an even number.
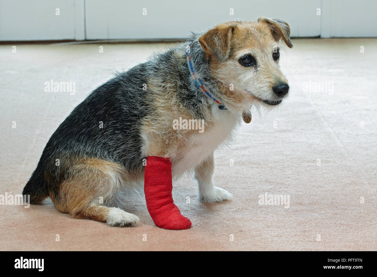
[[[204,52],[215,56],[220,63],[226,61],[236,25],[235,22],[219,24],[201,35],[198,40]]]

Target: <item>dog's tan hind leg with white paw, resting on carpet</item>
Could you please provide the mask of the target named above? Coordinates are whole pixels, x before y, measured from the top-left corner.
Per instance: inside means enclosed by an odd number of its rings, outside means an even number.
[[[129,177],[122,165],[94,158],[79,159],[69,175],[51,197],[59,211],[113,226],[134,226],[139,222],[134,214],[106,207]]]

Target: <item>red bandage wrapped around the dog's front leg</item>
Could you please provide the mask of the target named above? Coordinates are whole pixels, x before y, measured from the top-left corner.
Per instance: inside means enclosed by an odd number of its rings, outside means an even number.
[[[172,190],[172,163],[169,158],[148,156],[144,171],[144,193],[153,222],[164,229],[189,229],[191,221],[182,216],[173,203]]]

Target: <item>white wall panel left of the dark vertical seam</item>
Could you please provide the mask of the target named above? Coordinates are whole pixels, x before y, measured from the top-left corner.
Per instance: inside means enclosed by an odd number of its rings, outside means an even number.
[[[0,41],[84,39],[84,0],[0,0]]]

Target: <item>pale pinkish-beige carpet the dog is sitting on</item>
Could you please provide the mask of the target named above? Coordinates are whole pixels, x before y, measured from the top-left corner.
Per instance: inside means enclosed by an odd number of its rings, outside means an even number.
[[[72,219],[50,200],[0,205],[0,250],[377,250],[377,39],[293,44],[282,54],[289,99],[254,114],[215,155],[214,183],[233,199],[198,202],[192,176],[173,184],[191,229],[156,227],[143,195],[125,204],[141,218],[135,228]],[[0,194],[22,192],[49,136],[87,93],[166,45],[0,45]],[[75,95],[44,92],[51,79],[75,81]],[[320,82],[330,90],[316,92]],[[265,193],[289,195],[290,207],[259,205]]]

